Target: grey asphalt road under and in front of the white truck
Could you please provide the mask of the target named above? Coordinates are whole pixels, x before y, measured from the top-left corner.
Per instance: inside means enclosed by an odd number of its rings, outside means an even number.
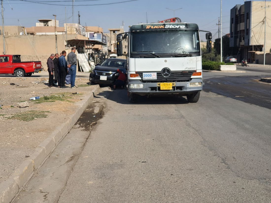
[[[88,136],[92,113],[69,133],[83,130],[87,141],[66,162],[49,158],[15,202],[271,202],[270,85],[257,81],[265,75],[204,73],[198,103],[130,104],[125,90],[101,88],[104,116]]]

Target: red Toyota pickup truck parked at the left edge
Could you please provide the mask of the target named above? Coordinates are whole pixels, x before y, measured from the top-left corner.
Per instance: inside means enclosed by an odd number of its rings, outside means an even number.
[[[40,61],[21,62],[21,55],[0,55],[0,74],[30,77],[42,70]]]

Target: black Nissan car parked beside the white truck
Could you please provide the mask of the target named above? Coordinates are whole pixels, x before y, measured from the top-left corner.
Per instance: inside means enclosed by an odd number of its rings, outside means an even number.
[[[118,69],[122,73],[126,73],[126,59],[108,58],[95,66],[89,75],[89,81],[92,84],[112,85],[118,78]]]

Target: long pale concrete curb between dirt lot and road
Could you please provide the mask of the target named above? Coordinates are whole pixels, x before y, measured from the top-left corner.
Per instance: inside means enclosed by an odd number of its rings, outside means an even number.
[[[7,181],[2,182],[0,185],[1,203],[10,203],[17,197],[21,189],[27,184],[34,173],[47,160],[56,146],[67,135],[98,91],[99,86],[97,85],[85,99],[77,104],[78,108],[75,113],[71,115],[65,123],[57,127],[57,129],[35,149],[35,152],[30,156],[30,159],[25,160]]]

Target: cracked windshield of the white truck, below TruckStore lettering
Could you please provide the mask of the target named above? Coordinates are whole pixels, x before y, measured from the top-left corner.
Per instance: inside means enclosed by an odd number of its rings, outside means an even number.
[[[197,30],[137,31],[131,33],[132,54],[200,54]]]

